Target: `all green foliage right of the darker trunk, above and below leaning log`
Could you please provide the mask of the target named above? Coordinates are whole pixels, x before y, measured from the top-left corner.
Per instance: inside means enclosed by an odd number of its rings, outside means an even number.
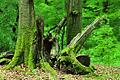
[[[119,14],[119,0],[108,1],[108,7],[104,6],[108,0],[88,0],[83,8],[83,26],[86,23],[92,22],[93,18],[100,15],[106,15],[108,22],[95,30],[90,38],[86,41],[84,49],[81,53],[90,54],[93,63],[117,65],[119,66],[119,49],[120,49],[120,14]],[[104,9],[108,12],[104,12]]]

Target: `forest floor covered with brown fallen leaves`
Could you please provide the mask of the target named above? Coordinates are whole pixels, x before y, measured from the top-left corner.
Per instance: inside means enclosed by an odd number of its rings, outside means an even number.
[[[72,75],[59,71],[53,80],[120,80],[120,66],[95,65],[95,68],[95,74],[87,75]],[[18,66],[14,70],[3,70],[3,66],[0,66],[0,80],[50,80],[49,75],[40,69],[30,71]]]

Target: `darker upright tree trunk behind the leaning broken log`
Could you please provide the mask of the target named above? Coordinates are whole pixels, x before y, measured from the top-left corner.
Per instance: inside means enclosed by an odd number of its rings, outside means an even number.
[[[69,44],[72,38],[81,32],[82,2],[81,0],[66,0],[65,3],[67,12],[67,44]]]

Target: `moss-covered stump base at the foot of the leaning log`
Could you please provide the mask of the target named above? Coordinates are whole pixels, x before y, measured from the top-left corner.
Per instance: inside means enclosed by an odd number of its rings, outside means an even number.
[[[63,53],[64,52],[64,53]],[[73,50],[67,49],[65,51],[61,51],[61,55],[58,58],[58,67],[65,72],[73,73],[73,74],[86,74],[94,72],[94,69],[89,66],[86,67],[81,64],[74,55]]]

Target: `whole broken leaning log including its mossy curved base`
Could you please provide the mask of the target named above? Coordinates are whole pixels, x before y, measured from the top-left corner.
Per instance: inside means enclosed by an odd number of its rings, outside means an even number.
[[[78,33],[67,45],[67,47],[60,52],[61,54],[58,57],[58,64],[60,69],[62,68],[64,71],[70,71],[75,74],[86,74],[94,72],[94,67],[90,66],[90,63],[87,63],[87,65],[84,64],[86,62],[76,58],[75,53],[82,46],[89,34],[101,21],[103,21],[103,19],[104,17],[98,18],[93,23],[88,25],[81,34]]]

